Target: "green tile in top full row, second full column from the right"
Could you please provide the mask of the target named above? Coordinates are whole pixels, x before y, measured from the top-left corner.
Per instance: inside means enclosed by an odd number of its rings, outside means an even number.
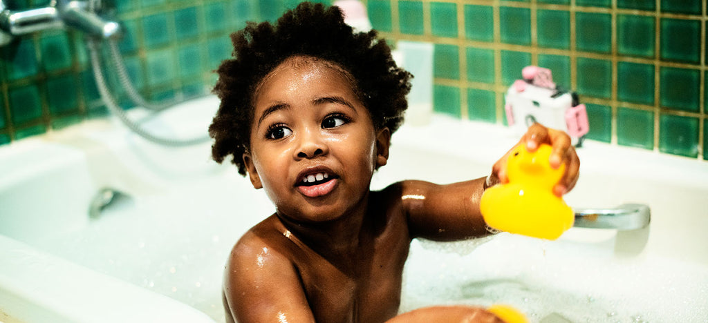
[[[654,57],[656,22],[653,17],[618,15],[617,52],[627,56]]]

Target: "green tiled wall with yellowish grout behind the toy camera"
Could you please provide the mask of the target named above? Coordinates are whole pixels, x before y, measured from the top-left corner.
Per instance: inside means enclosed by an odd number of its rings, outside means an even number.
[[[708,160],[705,1],[368,0],[392,40],[435,43],[435,110],[505,124],[524,66],[586,103],[589,139]]]

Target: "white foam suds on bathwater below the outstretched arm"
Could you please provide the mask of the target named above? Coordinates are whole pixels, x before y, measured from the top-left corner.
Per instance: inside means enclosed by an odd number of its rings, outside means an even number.
[[[464,254],[439,245],[421,241],[411,247],[402,312],[435,304],[504,303],[530,322],[614,323],[700,322],[707,311],[704,300],[690,297],[706,295],[708,272],[700,265],[623,260],[590,245],[508,233],[473,244]],[[675,308],[669,305],[673,300],[695,311],[667,310]]]

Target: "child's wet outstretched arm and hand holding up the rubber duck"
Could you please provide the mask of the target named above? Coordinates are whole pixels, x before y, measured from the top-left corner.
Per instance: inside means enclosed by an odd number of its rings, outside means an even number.
[[[541,124],[530,127],[517,146],[526,145],[530,151],[535,151],[542,143],[553,147],[549,160],[552,167],[566,164],[563,177],[554,187],[554,193],[561,196],[575,186],[580,160],[567,134]],[[508,182],[503,165],[511,151],[513,148],[493,165],[489,177],[446,185],[422,181],[397,183],[401,189],[411,237],[445,241],[486,235],[486,223],[479,211],[479,201],[486,187]]]

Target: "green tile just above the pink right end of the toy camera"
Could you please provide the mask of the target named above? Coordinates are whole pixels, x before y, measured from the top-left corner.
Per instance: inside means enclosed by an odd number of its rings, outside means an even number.
[[[578,57],[578,94],[595,98],[612,96],[612,62]]]

